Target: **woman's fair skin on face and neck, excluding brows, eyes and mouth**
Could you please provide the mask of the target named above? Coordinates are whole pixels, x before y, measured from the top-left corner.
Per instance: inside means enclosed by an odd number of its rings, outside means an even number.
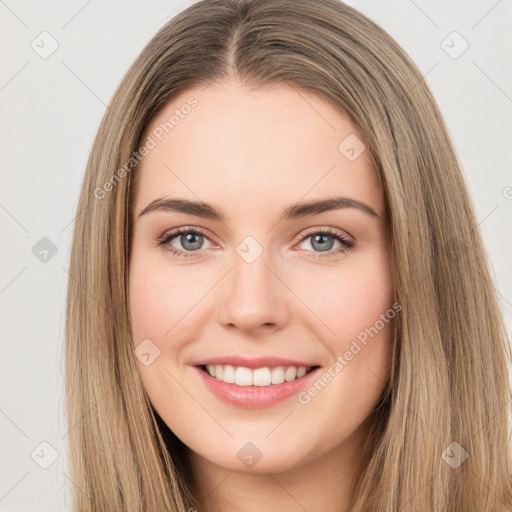
[[[160,355],[137,363],[161,418],[187,445],[201,510],[348,511],[369,414],[389,377],[392,321],[308,404],[292,396],[263,409],[221,402],[193,368],[200,359],[243,354],[316,361],[329,368],[393,304],[384,197],[369,151],[350,161],[338,145],[349,119],[322,97],[285,84],[249,89],[236,79],[172,99],[145,136],[190,97],[197,106],[144,157],[132,215],[129,298],[134,346],[149,338]],[[341,195],[380,218],[342,208],[278,222],[285,207]],[[161,197],[202,200],[224,222],[172,211],[137,218]],[[179,257],[157,240],[181,226],[207,237]],[[310,228],[333,228],[354,242]],[[316,233],[318,233],[316,231]],[[236,248],[252,236],[263,252],[247,263]],[[170,245],[170,243],[168,244]],[[325,247],[325,245],[324,245]],[[320,255],[320,257],[318,257]],[[252,442],[251,468],[237,452]]]

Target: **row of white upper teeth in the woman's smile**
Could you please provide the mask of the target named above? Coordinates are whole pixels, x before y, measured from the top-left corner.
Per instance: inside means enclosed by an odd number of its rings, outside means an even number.
[[[237,386],[270,386],[290,382],[306,375],[310,368],[305,366],[276,366],[275,368],[256,368],[251,370],[244,366],[231,366],[229,364],[206,365],[208,373],[217,380]]]

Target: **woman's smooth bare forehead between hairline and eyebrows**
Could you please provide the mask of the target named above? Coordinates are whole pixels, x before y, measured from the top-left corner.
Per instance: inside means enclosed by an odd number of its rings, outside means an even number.
[[[328,100],[286,84],[187,90],[151,120],[143,144],[148,137],[154,147],[136,171],[137,212],[164,196],[222,205],[233,215],[333,195],[383,209],[353,123]]]

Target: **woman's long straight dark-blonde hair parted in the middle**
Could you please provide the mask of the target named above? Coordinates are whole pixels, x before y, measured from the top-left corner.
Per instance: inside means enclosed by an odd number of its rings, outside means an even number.
[[[402,312],[353,512],[512,506],[510,347],[460,165],[424,77],[386,32],[337,0],[204,0],[160,29],[130,67],[87,163],[66,312],[73,510],[204,509],[184,446],[136,370],[132,175],[143,130],[165,102],[230,76],[330,100],[364,134],[384,189]],[[454,453],[467,453],[458,467]]]

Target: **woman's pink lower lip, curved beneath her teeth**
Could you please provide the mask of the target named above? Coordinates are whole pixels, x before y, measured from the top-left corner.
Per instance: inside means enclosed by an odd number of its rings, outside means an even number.
[[[296,395],[303,389],[311,379],[316,375],[320,368],[282,384],[270,384],[270,386],[237,386],[217,380],[200,367],[194,367],[206,387],[220,400],[230,405],[247,408],[261,408],[273,405],[281,400]]]

